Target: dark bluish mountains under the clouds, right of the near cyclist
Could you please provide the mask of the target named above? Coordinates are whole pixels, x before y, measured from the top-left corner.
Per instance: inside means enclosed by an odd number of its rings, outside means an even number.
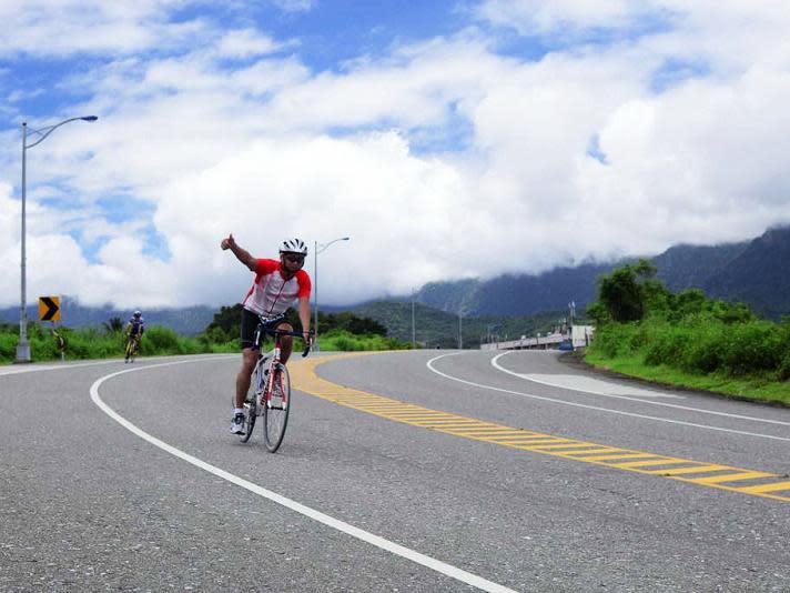
[[[790,227],[721,245],[675,245],[649,259],[671,291],[702,289],[711,298],[741,301],[756,312],[778,319],[790,314]],[[597,279],[635,259],[556,268],[541,274],[505,274],[490,280],[432,282],[417,302],[465,315],[533,315],[563,310],[574,301],[578,311],[595,301]]]

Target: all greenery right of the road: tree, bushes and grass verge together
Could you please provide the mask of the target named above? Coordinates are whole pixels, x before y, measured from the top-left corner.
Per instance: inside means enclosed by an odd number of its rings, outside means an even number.
[[[761,319],[743,303],[678,293],[647,260],[599,279],[588,306],[596,335],[586,361],[659,383],[790,404],[790,316]],[[639,277],[639,278],[638,278]],[[638,314],[635,314],[638,313]]]

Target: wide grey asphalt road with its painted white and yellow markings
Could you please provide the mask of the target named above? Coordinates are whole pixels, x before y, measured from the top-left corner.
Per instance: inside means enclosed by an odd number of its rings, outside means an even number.
[[[276,454],[229,432],[237,356],[0,369],[0,591],[790,591],[790,410],[313,360]]]

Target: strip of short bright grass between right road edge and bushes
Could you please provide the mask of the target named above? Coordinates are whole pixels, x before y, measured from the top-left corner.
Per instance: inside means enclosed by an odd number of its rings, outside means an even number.
[[[733,378],[725,372],[690,373],[667,364],[646,364],[641,353],[607,356],[601,352],[587,352],[585,362],[628,376],[646,379],[665,385],[711,391],[723,395],[790,405],[790,381],[776,381],[771,373],[756,373]]]

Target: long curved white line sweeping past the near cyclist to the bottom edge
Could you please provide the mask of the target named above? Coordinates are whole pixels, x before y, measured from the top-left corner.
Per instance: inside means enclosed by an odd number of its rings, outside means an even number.
[[[500,584],[497,584],[497,583],[494,583],[486,579],[483,579],[482,576],[477,576],[476,574],[466,572],[462,569],[453,566],[452,564],[447,564],[445,562],[433,559],[431,556],[426,556],[425,554],[421,554],[419,552],[416,552],[416,551],[405,547],[403,545],[398,545],[394,542],[391,542],[389,540],[385,540],[384,537],[381,537],[381,536],[369,533],[367,531],[361,530],[359,527],[356,527],[350,523],[345,523],[344,521],[341,521],[338,519],[335,519],[333,516],[324,514],[320,511],[311,509],[310,506],[305,506],[304,504],[301,504],[296,501],[287,499],[287,497],[283,496],[282,494],[277,494],[276,492],[266,490],[265,488],[259,486],[257,484],[247,482],[246,480],[239,478],[237,475],[234,475],[234,474],[226,472],[225,470],[222,470],[215,465],[206,463],[205,461],[202,461],[193,455],[190,455],[189,453],[184,453],[180,449],[176,449],[173,445],[165,443],[164,441],[160,441],[155,436],[152,436],[151,434],[146,433],[142,429],[138,428],[135,424],[132,424],[125,418],[123,418],[122,415],[117,413],[107,403],[104,403],[104,401],[99,395],[99,388],[108,379],[112,379],[114,376],[119,376],[119,375],[125,374],[125,373],[131,373],[131,372],[134,372],[138,370],[152,369],[152,368],[159,368],[159,366],[169,366],[169,365],[173,365],[173,364],[185,364],[188,362],[196,362],[196,361],[186,360],[186,361],[165,362],[163,364],[151,364],[148,366],[141,366],[139,369],[124,369],[123,371],[118,371],[118,372],[104,375],[101,379],[98,379],[91,385],[91,389],[90,389],[91,400],[93,400],[93,403],[95,403],[102,410],[102,412],[104,412],[107,415],[109,415],[115,422],[121,424],[124,429],[136,434],[144,441],[148,441],[149,443],[151,443],[154,446],[158,446],[162,451],[166,451],[171,455],[175,455],[176,458],[179,458],[188,463],[191,463],[192,465],[200,468],[201,470],[204,470],[213,475],[216,475],[217,478],[222,478],[223,480],[226,480],[227,482],[231,482],[232,484],[235,484],[235,485],[241,486],[245,490],[249,490],[250,492],[257,494],[259,496],[262,496],[262,497],[267,499],[272,502],[281,504],[287,509],[291,509],[292,511],[294,511],[296,513],[300,513],[308,519],[312,519],[313,521],[317,521],[318,523],[322,523],[322,524],[333,527],[337,531],[341,531],[347,535],[351,535],[352,537],[356,537],[357,540],[362,540],[363,542],[375,545],[376,547],[379,547],[382,550],[391,552],[395,555],[398,555],[406,560],[411,560],[412,562],[415,562],[417,564],[422,564],[423,566],[426,566],[426,567],[432,569],[436,572],[439,572],[442,574],[450,576],[450,577],[453,577],[457,581],[460,581],[462,583],[465,583],[467,585],[475,586],[482,591],[490,591],[494,593],[516,593],[512,589],[508,589]]]

